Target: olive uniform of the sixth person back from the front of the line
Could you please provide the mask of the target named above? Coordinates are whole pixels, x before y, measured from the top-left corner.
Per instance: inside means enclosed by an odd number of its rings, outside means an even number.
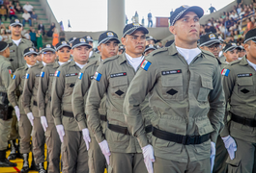
[[[44,161],[44,131],[41,124],[41,118],[38,108],[38,88],[40,82],[41,71],[43,69],[43,62],[38,62],[31,66],[26,74],[23,97],[21,103],[24,107],[26,114],[33,113],[34,126],[32,129],[32,142],[33,142],[33,154],[36,164],[43,163]]]

